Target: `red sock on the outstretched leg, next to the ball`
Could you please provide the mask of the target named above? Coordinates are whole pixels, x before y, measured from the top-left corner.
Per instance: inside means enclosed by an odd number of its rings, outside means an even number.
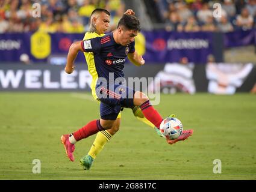
[[[149,103],[149,100],[143,103],[140,106],[140,109],[142,109],[142,113],[145,116],[148,121],[152,122],[152,124],[155,125],[155,127],[159,128],[161,122],[163,121],[163,118],[161,115],[157,112],[157,110],[154,109],[153,106]]]

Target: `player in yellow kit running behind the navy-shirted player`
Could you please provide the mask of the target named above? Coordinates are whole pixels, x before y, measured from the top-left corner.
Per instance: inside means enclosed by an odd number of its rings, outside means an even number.
[[[127,10],[125,12],[125,14],[134,14],[134,12],[133,12],[133,10]],[[109,23],[110,23],[110,13],[107,10],[97,8],[91,14],[90,29],[84,35],[83,40],[88,40],[91,38],[104,36],[105,35],[104,33],[108,30]],[[93,53],[90,53],[90,52],[84,52],[84,55],[86,57],[86,62],[88,65],[89,73],[92,75],[92,84],[91,84],[92,95],[93,95],[93,98],[95,98],[95,100],[97,100],[98,98],[96,95],[95,87],[96,87],[96,82],[98,80],[98,73],[97,73],[96,67],[95,67],[94,55],[93,55]],[[132,58],[130,58],[130,59],[132,59]],[[154,124],[152,124],[152,122],[148,121],[148,119],[145,118],[145,116],[143,115],[142,110],[140,109],[139,106],[135,106],[133,108],[133,113],[137,119],[139,119],[140,121],[149,125],[150,127],[154,128],[155,131],[157,131],[157,133],[159,135],[161,135],[158,128],[156,128],[154,126]],[[87,170],[90,169],[90,167],[92,166],[93,160],[95,160],[96,156],[99,154],[99,152],[101,152],[102,148],[104,148],[104,145],[119,130],[120,117],[121,117],[121,115],[119,113],[116,121],[114,122],[114,124],[112,125],[112,127],[110,129],[98,132],[96,139],[93,142],[92,147],[90,148],[90,151],[88,152],[88,154],[86,156],[84,156],[80,160],[81,165],[83,166],[84,169],[87,169]],[[64,139],[64,137],[61,137],[61,142],[64,144],[64,146],[66,145],[66,143],[65,143],[66,139]],[[72,140],[72,136],[69,137],[69,140]],[[167,143],[173,144],[173,143],[176,143],[177,141],[178,140],[167,140]],[[70,142],[70,143],[72,143],[72,142]],[[71,156],[70,160],[73,161],[73,156]]]

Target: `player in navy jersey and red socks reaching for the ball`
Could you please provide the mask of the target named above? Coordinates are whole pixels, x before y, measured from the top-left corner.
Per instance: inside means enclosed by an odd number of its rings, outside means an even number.
[[[74,70],[73,62],[79,51],[92,52],[97,73],[97,83],[95,92],[100,104],[100,119],[95,119],[78,131],[72,134],[61,136],[61,140],[66,149],[67,157],[71,161],[75,143],[78,140],[92,136],[98,131],[108,130],[113,127],[121,107],[133,108],[139,106],[143,115],[155,127],[159,128],[163,118],[149,103],[149,98],[140,91],[134,91],[122,84],[123,67],[126,58],[130,59],[134,65],[144,65],[142,56],[138,55],[134,49],[134,37],[140,31],[139,20],[135,16],[124,14],[120,19],[117,29],[103,37],[96,37],[73,43],[67,54],[66,73]],[[117,80],[118,79],[118,80]],[[185,140],[192,135],[193,130],[183,131],[178,139],[170,140],[172,144],[180,140]],[[81,164],[83,165],[81,159]],[[86,168],[84,166],[84,168]]]

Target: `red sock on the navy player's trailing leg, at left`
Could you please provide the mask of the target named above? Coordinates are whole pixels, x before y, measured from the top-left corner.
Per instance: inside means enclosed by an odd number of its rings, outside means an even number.
[[[99,119],[93,120],[88,124],[84,125],[84,127],[80,128],[80,130],[75,131],[73,133],[73,137],[75,137],[75,140],[78,142],[78,140],[92,136],[93,134],[98,133],[102,130],[104,130],[104,128],[99,123]]]

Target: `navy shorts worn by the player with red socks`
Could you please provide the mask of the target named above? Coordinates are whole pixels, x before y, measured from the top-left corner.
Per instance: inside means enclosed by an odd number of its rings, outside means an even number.
[[[101,101],[101,119],[116,120],[122,107],[131,108],[133,104],[134,89],[124,85],[98,85],[96,94]]]

